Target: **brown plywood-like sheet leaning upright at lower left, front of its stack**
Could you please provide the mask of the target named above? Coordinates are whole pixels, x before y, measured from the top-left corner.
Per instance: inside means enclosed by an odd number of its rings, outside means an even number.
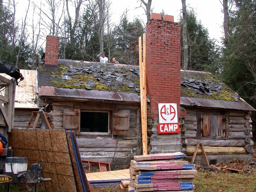
[[[49,192],[76,191],[65,130],[13,128],[11,134],[14,156],[27,157],[28,169],[32,163],[42,163],[44,177],[52,179],[40,183],[39,188]]]

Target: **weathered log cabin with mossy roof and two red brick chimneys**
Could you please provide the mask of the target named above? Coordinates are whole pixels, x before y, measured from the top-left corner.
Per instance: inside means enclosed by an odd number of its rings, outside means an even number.
[[[58,59],[58,44],[47,36],[38,62],[39,105],[47,105],[54,128],[76,132],[82,159],[129,165],[142,154],[139,66]],[[252,160],[255,109],[212,74],[180,70],[180,27],[172,16],[151,15],[145,70],[148,154],[181,151],[189,159],[200,142],[210,160]],[[158,103],[177,104],[180,133],[158,134]]]

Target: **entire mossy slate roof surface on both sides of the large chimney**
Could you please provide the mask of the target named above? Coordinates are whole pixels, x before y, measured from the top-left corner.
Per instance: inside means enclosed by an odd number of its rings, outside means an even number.
[[[239,96],[211,73],[181,70],[181,96],[239,101]],[[38,64],[38,85],[140,94],[139,66],[59,59],[57,67]]]

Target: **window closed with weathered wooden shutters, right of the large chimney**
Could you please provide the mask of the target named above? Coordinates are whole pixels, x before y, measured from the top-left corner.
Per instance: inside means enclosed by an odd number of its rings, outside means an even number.
[[[228,138],[227,117],[225,115],[199,114],[198,139]]]

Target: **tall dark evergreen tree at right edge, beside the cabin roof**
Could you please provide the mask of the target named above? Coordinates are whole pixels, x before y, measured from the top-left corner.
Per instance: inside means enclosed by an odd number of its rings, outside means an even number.
[[[256,0],[235,0],[235,6],[229,15],[230,37],[223,50],[221,76],[256,107]]]

